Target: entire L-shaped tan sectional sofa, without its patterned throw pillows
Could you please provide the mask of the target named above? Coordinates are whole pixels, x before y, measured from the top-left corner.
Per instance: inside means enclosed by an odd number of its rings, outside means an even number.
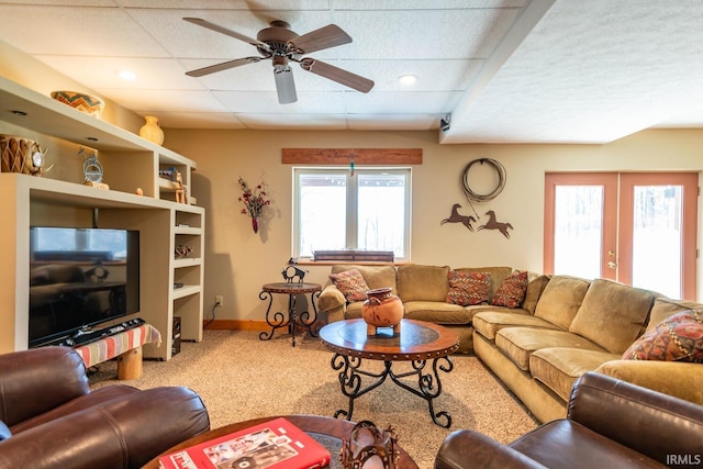
[[[571,388],[581,375],[598,371],[691,402],[703,404],[703,365],[622,359],[625,350],[661,321],[703,304],[672,300],[604,279],[532,275],[520,308],[490,304],[459,306],[446,302],[447,266],[341,265],[332,273],[357,269],[370,289],[391,287],[405,317],[451,327],[460,353],[475,353],[542,422],[563,418]],[[489,271],[491,295],[513,269]],[[330,282],[319,310],[328,322],[361,316],[362,302],[347,303]]]

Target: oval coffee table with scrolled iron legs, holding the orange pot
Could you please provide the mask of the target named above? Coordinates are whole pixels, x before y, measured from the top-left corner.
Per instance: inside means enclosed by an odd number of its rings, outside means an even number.
[[[399,333],[388,327],[378,328],[372,335],[367,334],[364,320],[339,321],[320,330],[323,344],[335,353],[332,368],[339,370],[342,393],[349,398],[348,410],[341,409],[334,416],[352,420],[354,400],[378,388],[390,377],[399,387],[426,400],[432,421],[449,428],[451,416],[445,411],[435,413],[433,400],[442,394],[439,371],[449,372],[454,369],[449,355],[459,347],[459,336],[447,327],[413,320],[402,320]],[[383,371],[362,370],[362,359],[383,361]],[[413,370],[394,373],[394,361],[410,361]],[[432,366],[427,366],[428,361]],[[375,381],[362,387],[362,377]],[[417,384],[402,381],[408,377],[416,377]]]

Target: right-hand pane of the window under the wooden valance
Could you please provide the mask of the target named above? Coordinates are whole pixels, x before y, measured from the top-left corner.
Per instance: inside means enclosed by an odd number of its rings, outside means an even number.
[[[360,249],[405,253],[405,175],[358,175],[358,232]]]

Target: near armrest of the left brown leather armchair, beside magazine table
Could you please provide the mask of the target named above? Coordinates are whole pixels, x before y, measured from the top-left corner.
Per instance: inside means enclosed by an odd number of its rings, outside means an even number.
[[[12,435],[0,442],[0,467],[141,468],[209,428],[197,393],[154,388]]]

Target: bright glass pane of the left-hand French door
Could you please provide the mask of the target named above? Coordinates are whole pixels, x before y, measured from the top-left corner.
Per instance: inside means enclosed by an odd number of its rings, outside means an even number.
[[[602,186],[556,186],[555,273],[601,277],[602,231]]]

